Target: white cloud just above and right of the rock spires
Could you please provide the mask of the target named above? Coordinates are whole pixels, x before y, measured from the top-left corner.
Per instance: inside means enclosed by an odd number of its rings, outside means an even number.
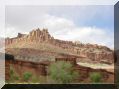
[[[41,22],[40,27],[42,27],[42,28],[46,27],[46,28],[49,29],[49,31],[51,33],[55,33],[55,34],[57,32],[58,33],[63,32],[67,28],[71,29],[75,26],[74,23],[71,20],[61,18],[61,17],[51,16],[51,15],[48,15],[48,14],[44,15],[42,21],[40,21],[40,22]]]

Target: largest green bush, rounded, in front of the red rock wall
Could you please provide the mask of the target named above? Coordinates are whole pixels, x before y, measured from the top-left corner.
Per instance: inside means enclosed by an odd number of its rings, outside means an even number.
[[[73,70],[70,62],[59,61],[50,66],[49,76],[55,81],[55,83],[66,84],[73,82],[79,74]]]

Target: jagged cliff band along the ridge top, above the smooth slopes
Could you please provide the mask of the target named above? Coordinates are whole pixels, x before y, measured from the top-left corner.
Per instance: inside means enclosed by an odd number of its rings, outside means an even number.
[[[40,30],[39,28],[31,31],[29,34],[18,33],[15,38],[6,38],[5,45],[22,44],[22,43],[35,43],[35,44],[51,44],[61,48],[70,53],[83,56],[91,61],[107,61],[113,63],[113,51],[108,47],[100,46],[97,44],[82,44],[79,42],[63,41],[54,39],[47,29]]]

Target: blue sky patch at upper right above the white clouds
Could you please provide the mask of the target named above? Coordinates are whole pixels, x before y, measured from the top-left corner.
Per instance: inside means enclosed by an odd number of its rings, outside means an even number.
[[[79,26],[113,29],[114,8],[112,5],[59,6],[50,7],[49,9],[51,15],[72,19]]]

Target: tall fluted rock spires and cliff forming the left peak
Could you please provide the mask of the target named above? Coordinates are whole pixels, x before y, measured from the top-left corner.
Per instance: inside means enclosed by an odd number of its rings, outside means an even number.
[[[28,35],[18,33],[18,36],[16,38],[6,38],[5,44],[9,45],[18,42],[43,42],[49,41],[51,39],[52,37],[49,35],[47,29],[43,29],[42,31],[40,29],[36,29],[31,31]]]

